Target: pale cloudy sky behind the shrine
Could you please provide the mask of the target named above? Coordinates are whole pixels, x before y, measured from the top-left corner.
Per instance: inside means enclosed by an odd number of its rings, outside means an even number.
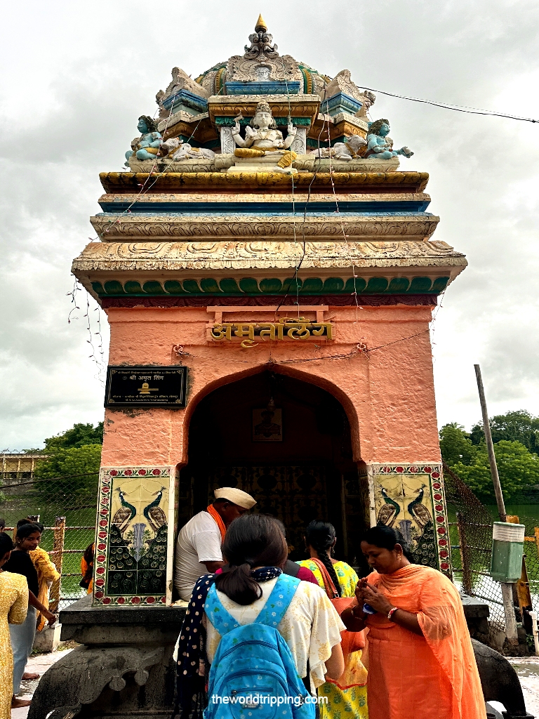
[[[248,10],[246,8],[249,8]],[[93,231],[98,173],[119,170],[137,117],[179,65],[195,77],[241,53],[262,12],[283,54],[359,86],[539,119],[535,0],[206,0],[153,4],[21,0],[0,33],[0,450],[42,446],[103,416],[96,304],[70,262]],[[535,90],[533,89],[535,88]],[[430,173],[436,239],[470,266],[443,298],[433,354],[440,424],[539,414],[539,124],[451,112],[379,94],[402,169]],[[106,352],[106,317],[101,313]],[[106,358],[106,354],[105,354]],[[106,364],[106,359],[105,359]]]

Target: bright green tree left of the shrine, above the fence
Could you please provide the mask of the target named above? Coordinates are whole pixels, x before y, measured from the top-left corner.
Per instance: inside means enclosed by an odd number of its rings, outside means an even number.
[[[101,444],[83,446],[53,446],[47,448],[47,459],[37,465],[35,477],[44,482],[50,494],[75,495],[93,492],[101,464]]]

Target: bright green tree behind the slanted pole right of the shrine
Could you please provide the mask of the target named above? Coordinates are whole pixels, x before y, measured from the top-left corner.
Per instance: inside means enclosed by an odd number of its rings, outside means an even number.
[[[494,444],[494,455],[506,501],[517,498],[526,487],[539,484],[539,457],[521,442],[502,439]],[[469,464],[461,461],[450,467],[482,502],[494,503],[489,455],[484,443],[477,447]]]

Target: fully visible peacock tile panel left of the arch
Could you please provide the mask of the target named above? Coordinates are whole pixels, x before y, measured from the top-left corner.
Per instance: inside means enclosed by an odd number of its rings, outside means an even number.
[[[94,605],[166,603],[174,475],[172,467],[101,468]]]

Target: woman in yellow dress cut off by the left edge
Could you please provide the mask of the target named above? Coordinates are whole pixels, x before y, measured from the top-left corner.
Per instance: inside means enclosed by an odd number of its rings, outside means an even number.
[[[0,532],[0,719],[11,718],[13,695],[13,653],[8,624],[22,624],[28,609],[28,584],[22,574],[4,572],[13,549],[11,537]],[[19,700],[19,706],[29,701]]]

